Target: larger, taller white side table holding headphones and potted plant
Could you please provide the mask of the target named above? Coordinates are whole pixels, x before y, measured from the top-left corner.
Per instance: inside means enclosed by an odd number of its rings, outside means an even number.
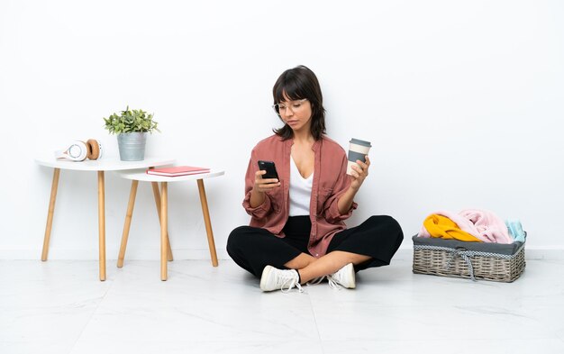
[[[55,200],[57,198],[57,187],[59,185],[59,175],[61,169],[75,171],[95,171],[98,173],[98,240],[99,240],[99,262],[100,280],[105,280],[105,171],[118,171],[133,168],[150,168],[157,166],[170,165],[175,159],[158,157],[148,157],[142,161],[121,161],[118,158],[103,158],[97,160],[85,160],[74,162],[64,159],[55,159],[53,156],[39,157],[35,162],[41,166],[54,168],[53,181],[51,184],[51,194],[49,211],[47,213],[47,225],[45,226],[45,238],[43,240],[43,251],[41,260],[47,260],[49,252],[50,233],[53,224],[53,213],[55,212]]]

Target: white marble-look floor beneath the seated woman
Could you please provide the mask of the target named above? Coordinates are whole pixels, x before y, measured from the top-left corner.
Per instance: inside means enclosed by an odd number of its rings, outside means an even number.
[[[564,260],[512,284],[414,275],[409,260],[264,294],[231,260],[0,261],[0,353],[564,353]]]

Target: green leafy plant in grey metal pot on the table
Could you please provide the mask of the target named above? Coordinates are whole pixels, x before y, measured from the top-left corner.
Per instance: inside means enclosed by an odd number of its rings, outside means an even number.
[[[105,129],[117,135],[117,144],[122,161],[141,161],[145,159],[147,132],[160,132],[158,123],[153,121],[153,114],[141,109],[129,109],[129,105],[119,114],[104,118]]]

